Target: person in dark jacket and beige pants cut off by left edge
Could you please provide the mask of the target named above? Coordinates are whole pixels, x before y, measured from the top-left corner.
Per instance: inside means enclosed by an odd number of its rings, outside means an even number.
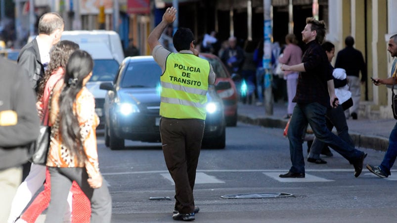
[[[39,135],[40,121],[28,71],[4,58],[0,67],[0,222],[7,222],[29,158],[27,145]]]

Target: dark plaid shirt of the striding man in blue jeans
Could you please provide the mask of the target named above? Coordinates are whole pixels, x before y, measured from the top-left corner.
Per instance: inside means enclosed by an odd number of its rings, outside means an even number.
[[[306,44],[302,57],[306,72],[300,72],[298,86],[293,102],[313,103],[330,108],[327,81],[331,80],[328,57],[321,45],[313,40]]]

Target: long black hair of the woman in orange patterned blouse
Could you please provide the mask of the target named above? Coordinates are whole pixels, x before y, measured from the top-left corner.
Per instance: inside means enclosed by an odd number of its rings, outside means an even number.
[[[83,88],[83,80],[92,72],[93,61],[91,55],[84,50],[73,52],[66,65],[64,86],[59,96],[59,129],[62,142],[69,149],[77,162],[82,162],[87,156],[83,151],[83,142],[80,133],[79,120],[74,112],[77,94]]]

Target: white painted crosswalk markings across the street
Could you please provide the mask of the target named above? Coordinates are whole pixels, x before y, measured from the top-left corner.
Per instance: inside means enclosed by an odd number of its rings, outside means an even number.
[[[346,174],[350,174],[353,176],[353,170],[352,169],[321,169],[321,170],[306,170],[306,176],[305,178],[280,178],[278,177],[280,174],[285,174],[288,172],[288,170],[197,170],[196,173],[196,182],[195,184],[224,184],[225,182],[222,181],[222,179],[219,179],[218,177],[214,176],[212,173],[224,173],[224,172],[260,172],[261,174],[264,174],[266,177],[269,177],[275,181],[278,181],[280,183],[312,183],[312,182],[333,182],[335,179],[327,179],[324,177],[320,177],[323,174],[319,173],[324,173],[324,172],[346,172]],[[392,171],[394,172],[394,171]],[[124,172],[124,173],[118,173],[119,175],[121,174],[142,174],[143,172]],[[149,171],[146,173],[150,174],[160,174],[164,179],[168,180],[170,184],[174,185],[174,181],[171,177],[171,175],[166,172],[166,171]],[[103,175],[115,175],[116,173],[107,173]],[[116,174],[117,175],[117,174]],[[319,176],[320,175],[320,176]],[[370,173],[368,170],[363,170],[363,173],[361,173],[360,177],[366,177],[366,178],[374,178],[378,179],[375,175]],[[392,174],[388,178],[384,178],[382,180],[387,180],[387,181],[397,181],[397,174]]]

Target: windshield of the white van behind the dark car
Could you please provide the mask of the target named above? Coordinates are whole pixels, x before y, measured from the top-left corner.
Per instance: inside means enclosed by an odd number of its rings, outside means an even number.
[[[92,76],[89,81],[113,81],[119,70],[116,60],[94,60]]]

